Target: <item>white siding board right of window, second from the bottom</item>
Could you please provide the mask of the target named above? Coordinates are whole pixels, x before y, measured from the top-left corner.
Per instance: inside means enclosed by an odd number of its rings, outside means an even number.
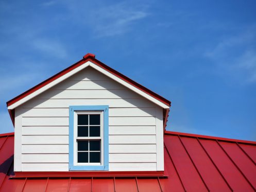
[[[156,153],[121,153],[109,154],[110,163],[157,162]]]

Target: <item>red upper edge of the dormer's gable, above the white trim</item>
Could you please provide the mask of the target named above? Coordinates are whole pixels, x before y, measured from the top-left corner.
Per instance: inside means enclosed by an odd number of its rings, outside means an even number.
[[[133,86],[135,86],[136,88],[140,89],[141,91],[149,94],[150,96],[160,100],[161,102],[167,104],[168,106],[170,106],[170,101],[168,101],[167,99],[163,98],[162,96],[156,94],[155,92],[152,92],[151,90],[145,88],[143,85],[131,80],[130,78],[126,77],[125,75],[115,71],[114,69],[112,69],[111,67],[107,66],[106,64],[98,61],[97,59],[95,59],[95,55],[94,54],[87,54],[85,56],[83,56],[83,59],[78,61],[77,63],[65,68],[63,71],[57,73],[56,75],[46,79],[45,81],[39,83],[38,85],[34,86],[33,88],[27,90],[26,92],[20,94],[19,96],[14,97],[13,99],[7,101],[7,107],[11,106],[13,103],[23,99],[24,97],[30,95],[31,93],[41,89],[43,86],[47,85],[48,83],[58,79],[59,77],[69,73],[70,71],[72,71],[73,69],[77,68],[78,66],[82,65],[83,63],[86,63],[87,61],[92,61],[93,63],[97,64],[98,66],[104,68],[105,70],[107,70],[108,72],[114,74],[115,76],[125,80],[126,82],[132,84]]]

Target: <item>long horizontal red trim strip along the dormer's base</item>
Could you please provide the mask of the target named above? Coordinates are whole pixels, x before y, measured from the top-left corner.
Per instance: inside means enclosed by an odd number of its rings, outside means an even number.
[[[164,171],[26,171],[14,172],[11,178],[45,178],[45,177],[161,177]]]

